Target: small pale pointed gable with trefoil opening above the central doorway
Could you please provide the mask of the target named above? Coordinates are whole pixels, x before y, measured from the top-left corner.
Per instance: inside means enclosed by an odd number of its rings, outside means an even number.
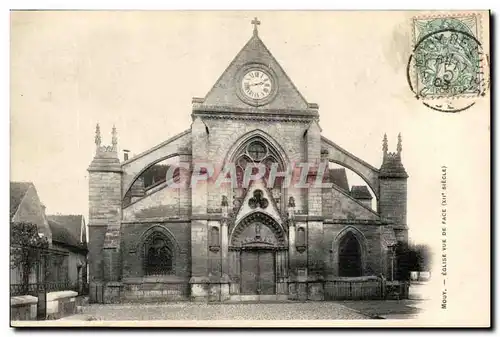
[[[261,200],[266,200],[263,203],[259,203],[258,198],[256,198],[256,193],[258,194],[261,191]],[[252,200],[251,200],[252,199]],[[257,199],[257,200],[256,200]],[[267,204],[267,205],[265,205]],[[265,206],[265,207],[263,207]],[[236,214],[236,223],[238,223],[241,219],[243,219],[248,214],[259,211],[271,216],[274,220],[276,220],[279,224],[281,224],[281,216],[276,208],[276,204],[273,200],[273,197],[269,190],[266,187],[265,182],[260,179],[258,181],[252,182],[246,192],[245,197],[243,198],[243,203],[241,204],[238,213]]]

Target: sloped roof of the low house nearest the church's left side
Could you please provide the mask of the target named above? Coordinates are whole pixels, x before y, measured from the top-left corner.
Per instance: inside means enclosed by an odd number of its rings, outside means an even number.
[[[79,245],[83,215],[57,214],[48,215],[47,219],[52,229],[52,241],[58,241],[68,245]],[[52,228],[53,226],[55,230]],[[56,231],[58,233],[56,233]],[[83,242],[86,242],[85,228],[83,228]]]

